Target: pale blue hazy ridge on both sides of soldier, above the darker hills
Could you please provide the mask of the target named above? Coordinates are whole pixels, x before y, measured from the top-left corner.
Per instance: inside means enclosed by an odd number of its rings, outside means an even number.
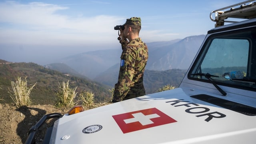
[[[199,35],[165,42],[148,43],[149,58],[146,69],[187,69],[204,38],[205,35]],[[79,74],[94,79],[110,67],[119,64],[121,53],[121,48],[96,50],[62,58],[58,62],[70,66]]]

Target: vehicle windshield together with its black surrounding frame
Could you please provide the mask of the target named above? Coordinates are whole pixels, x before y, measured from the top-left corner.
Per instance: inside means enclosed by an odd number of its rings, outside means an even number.
[[[220,85],[256,89],[256,30],[213,34],[204,44],[188,77]]]

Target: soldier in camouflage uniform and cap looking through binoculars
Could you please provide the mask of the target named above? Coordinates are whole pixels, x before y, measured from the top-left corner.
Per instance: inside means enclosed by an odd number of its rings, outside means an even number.
[[[139,37],[140,29],[141,20],[138,17],[126,19],[120,28],[118,40],[123,51],[112,103],[146,94],[143,74],[148,60],[148,47]]]

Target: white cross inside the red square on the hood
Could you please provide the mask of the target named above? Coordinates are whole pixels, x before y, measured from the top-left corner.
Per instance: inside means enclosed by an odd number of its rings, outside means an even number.
[[[147,125],[147,124],[153,124],[154,122],[152,122],[150,119],[151,118],[158,118],[160,116],[158,116],[158,114],[149,114],[149,115],[144,115],[141,112],[136,113],[136,114],[132,114],[132,116],[134,116],[134,118],[129,118],[124,120],[124,122],[126,124],[128,123],[132,123],[132,122],[140,122],[140,124]]]

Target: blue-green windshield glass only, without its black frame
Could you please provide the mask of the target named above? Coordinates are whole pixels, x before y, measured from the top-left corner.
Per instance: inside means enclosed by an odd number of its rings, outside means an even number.
[[[249,42],[240,39],[212,40],[208,52],[201,64],[202,73],[210,73],[223,80],[222,74],[240,71],[246,76]]]

